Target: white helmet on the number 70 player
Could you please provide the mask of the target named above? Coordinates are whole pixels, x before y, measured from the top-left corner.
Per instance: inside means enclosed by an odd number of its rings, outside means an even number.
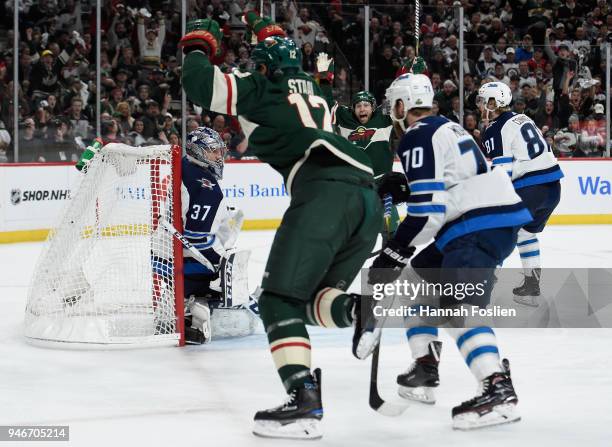
[[[431,108],[434,91],[431,81],[424,74],[405,73],[395,79],[385,92],[383,110],[394,121],[403,122],[411,109]],[[393,108],[398,100],[404,103],[404,116],[396,117]]]

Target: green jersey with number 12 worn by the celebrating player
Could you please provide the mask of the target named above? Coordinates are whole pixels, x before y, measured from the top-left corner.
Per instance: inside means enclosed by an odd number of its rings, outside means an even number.
[[[333,133],[327,102],[306,73],[286,74],[275,81],[259,73],[222,73],[203,52],[192,51],[185,57],[182,81],[194,103],[238,117],[249,148],[280,172],[289,192],[309,157],[352,166],[350,171],[371,179],[369,157]]]

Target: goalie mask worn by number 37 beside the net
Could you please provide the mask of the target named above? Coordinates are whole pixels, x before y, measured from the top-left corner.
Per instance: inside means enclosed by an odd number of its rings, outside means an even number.
[[[185,150],[190,162],[210,170],[217,180],[223,178],[227,146],[217,132],[208,127],[198,127],[189,132]]]

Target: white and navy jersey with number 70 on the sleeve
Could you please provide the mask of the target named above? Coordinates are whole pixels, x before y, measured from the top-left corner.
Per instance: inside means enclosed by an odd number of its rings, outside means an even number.
[[[465,234],[532,220],[508,175],[489,169],[460,125],[423,118],[408,128],[397,152],[410,186],[408,216],[395,236],[400,242],[414,246],[433,237],[443,250]]]

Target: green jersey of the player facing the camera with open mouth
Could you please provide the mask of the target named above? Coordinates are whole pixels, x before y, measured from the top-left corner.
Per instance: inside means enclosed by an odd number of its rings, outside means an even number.
[[[336,132],[365,151],[372,162],[375,177],[391,172],[394,159],[389,144],[393,132],[391,117],[384,115],[379,107],[367,123],[361,124],[350,107],[340,105],[333,99],[328,83],[322,81],[321,89],[331,107]]]

